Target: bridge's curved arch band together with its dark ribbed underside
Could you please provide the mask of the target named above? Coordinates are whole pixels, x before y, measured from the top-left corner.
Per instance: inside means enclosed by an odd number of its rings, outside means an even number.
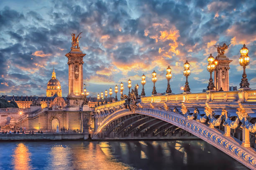
[[[129,124],[132,120],[136,120],[137,122],[135,124]],[[165,135],[166,128],[168,128],[169,134],[175,131],[176,135],[195,135],[222,150],[248,168],[256,168],[255,150],[241,146],[241,142],[235,140],[233,137],[223,136],[221,130],[210,128],[206,124],[197,122],[196,120],[188,120],[186,117],[172,111],[148,108],[140,108],[135,112],[131,112],[128,109],[118,110],[100,123],[95,135],[97,137],[103,134],[107,136],[113,132],[117,135],[123,133],[124,136],[131,135],[132,132],[134,135],[141,135],[141,133],[145,135]],[[160,133],[158,133],[159,131]]]

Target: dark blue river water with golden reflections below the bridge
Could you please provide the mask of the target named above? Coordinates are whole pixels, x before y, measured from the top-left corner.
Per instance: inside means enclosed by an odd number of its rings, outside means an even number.
[[[202,140],[0,142],[0,170],[247,170]]]

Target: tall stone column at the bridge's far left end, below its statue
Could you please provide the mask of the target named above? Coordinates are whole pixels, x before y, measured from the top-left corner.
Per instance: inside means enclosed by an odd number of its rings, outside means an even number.
[[[65,56],[68,57],[69,65],[69,100],[70,107],[80,107],[83,102],[83,54],[79,48],[72,48]],[[76,108],[77,109],[77,108]],[[74,110],[76,110],[74,109]]]

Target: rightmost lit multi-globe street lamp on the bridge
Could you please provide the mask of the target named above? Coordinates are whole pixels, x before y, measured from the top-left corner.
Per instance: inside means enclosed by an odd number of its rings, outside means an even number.
[[[250,62],[250,57],[248,56],[248,48],[246,47],[246,45],[244,44],[243,47],[240,50],[241,56],[239,58],[239,64],[243,67],[243,75],[242,75],[242,79],[241,79],[241,83],[240,83],[240,88],[249,88],[249,82],[248,79],[246,78],[246,66],[249,65]]]

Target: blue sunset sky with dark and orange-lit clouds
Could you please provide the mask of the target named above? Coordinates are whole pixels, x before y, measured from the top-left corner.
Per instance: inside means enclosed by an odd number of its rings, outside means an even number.
[[[139,85],[146,75],[151,95],[151,73],[156,91],[166,91],[166,68],[172,68],[173,93],[184,86],[183,64],[190,63],[191,92],[206,89],[210,74],[207,57],[213,45],[230,44],[230,86],[239,87],[243,69],[238,58],[249,49],[246,73],[256,89],[255,0],[2,0],[0,1],[0,95],[46,96],[55,68],[62,96],[68,94],[67,54],[71,33],[82,33],[84,83],[90,96],[127,81]],[[118,97],[120,93],[118,92]]]

